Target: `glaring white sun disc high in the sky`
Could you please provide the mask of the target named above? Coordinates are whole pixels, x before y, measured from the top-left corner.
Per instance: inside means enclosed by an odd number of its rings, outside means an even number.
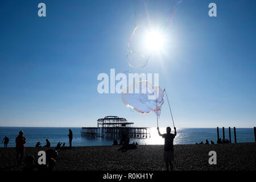
[[[163,48],[163,34],[156,30],[151,30],[145,35],[145,46],[149,51],[160,51]]]

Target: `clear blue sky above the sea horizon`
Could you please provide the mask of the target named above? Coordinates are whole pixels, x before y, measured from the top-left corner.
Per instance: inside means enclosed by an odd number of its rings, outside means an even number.
[[[47,17],[37,15],[38,3]],[[208,16],[210,2],[217,17]],[[11,1],[0,4],[0,126],[96,126],[118,115],[156,127],[156,115],[128,109],[119,94],[99,94],[97,76],[130,69],[159,73],[176,127],[253,127],[256,123],[256,2],[183,0],[159,64],[126,61],[132,1]],[[172,126],[167,102],[159,126]]]

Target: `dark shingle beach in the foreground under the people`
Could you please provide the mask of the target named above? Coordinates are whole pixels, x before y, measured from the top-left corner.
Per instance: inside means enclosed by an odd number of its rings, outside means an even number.
[[[153,170],[165,169],[163,145],[139,145],[137,149],[126,152],[117,151],[121,146],[85,146],[71,150],[58,150],[56,171],[84,170]],[[26,147],[25,155],[45,147]],[[176,144],[174,168],[177,171],[190,170],[256,170],[256,143],[227,144]],[[217,164],[210,165],[209,151],[216,151]],[[24,166],[16,166],[15,148],[0,148],[1,170],[20,171]]]

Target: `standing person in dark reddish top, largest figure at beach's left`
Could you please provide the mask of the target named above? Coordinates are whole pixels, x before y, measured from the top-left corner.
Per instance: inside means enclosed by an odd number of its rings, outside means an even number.
[[[18,137],[16,137],[15,143],[16,143],[16,159],[18,164],[20,165],[22,163],[22,159],[24,157],[25,152],[25,143],[27,142],[26,137],[23,136],[23,131],[19,131]]]

